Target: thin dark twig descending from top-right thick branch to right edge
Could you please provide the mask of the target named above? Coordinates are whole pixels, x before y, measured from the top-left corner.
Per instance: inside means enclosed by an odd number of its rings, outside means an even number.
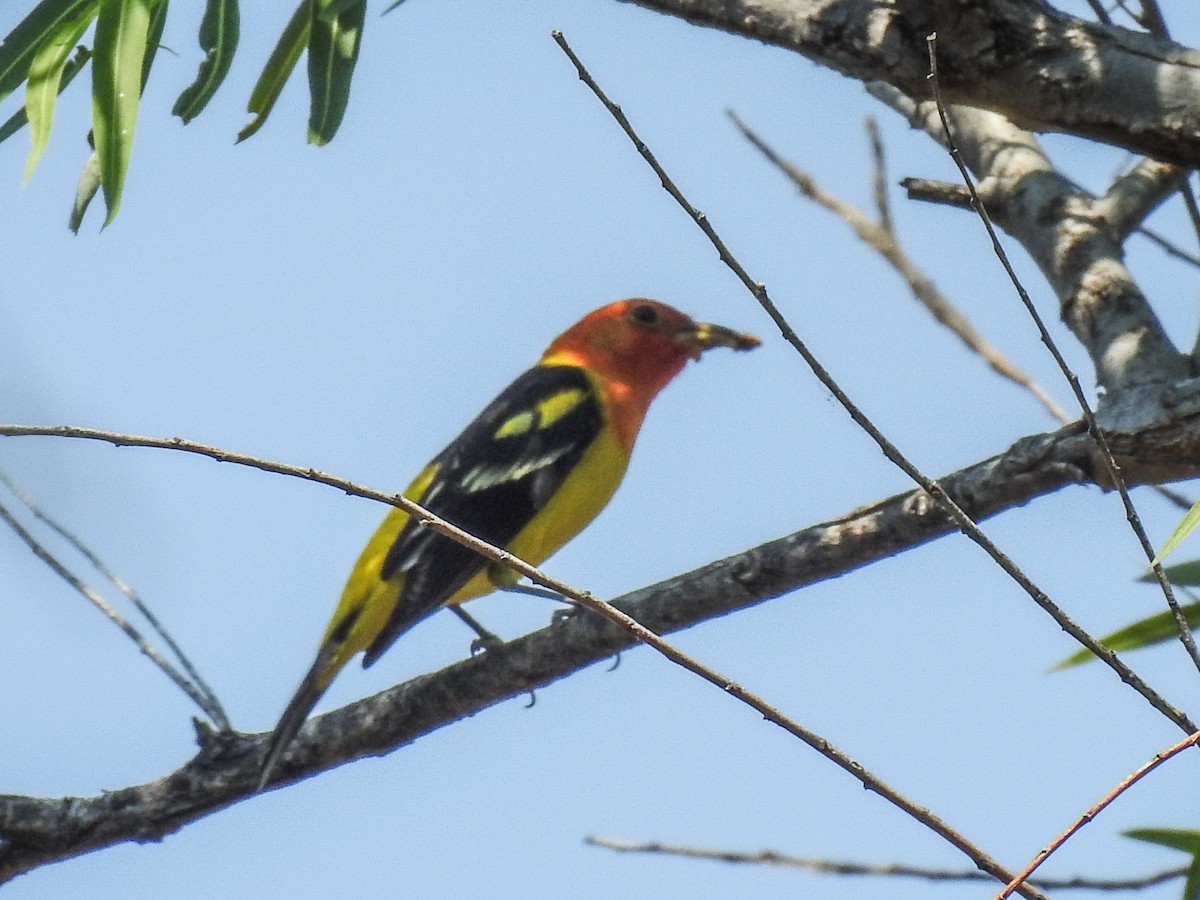
[[[1124,506],[1126,521],[1129,522],[1129,527],[1133,529],[1134,535],[1136,535],[1138,542],[1141,545],[1141,550],[1146,554],[1147,562],[1154,570],[1154,577],[1158,578],[1158,584],[1163,589],[1163,595],[1166,598],[1166,605],[1171,608],[1171,614],[1175,617],[1175,624],[1180,630],[1180,641],[1183,643],[1183,647],[1188,653],[1188,658],[1196,667],[1196,671],[1200,672],[1200,650],[1196,649],[1195,637],[1192,635],[1192,625],[1188,624],[1187,614],[1175,599],[1175,592],[1171,589],[1171,582],[1163,571],[1163,566],[1158,564],[1154,546],[1150,542],[1146,529],[1141,524],[1141,518],[1138,516],[1138,510],[1134,509],[1133,499],[1129,497],[1129,490],[1126,487],[1124,478],[1121,475],[1121,467],[1117,466],[1117,461],[1112,458],[1112,451],[1109,449],[1108,438],[1104,437],[1104,432],[1096,421],[1096,415],[1092,413],[1092,407],[1087,402],[1087,396],[1084,394],[1084,388],[1079,382],[1079,377],[1072,371],[1070,366],[1067,365],[1067,360],[1063,359],[1062,353],[1058,352],[1058,346],[1050,336],[1050,331],[1046,329],[1045,322],[1042,320],[1042,316],[1033,305],[1033,300],[1030,298],[1028,292],[1025,290],[1025,286],[1021,284],[1021,280],[1016,276],[1016,271],[1013,269],[1012,263],[1009,263],[1008,254],[1004,252],[1004,247],[1000,242],[996,229],[991,224],[991,217],[988,215],[988,209],[984,206],[978,191],[976,191],[974,179],[971,176],[971,172],[967,169],[966,163],[962,162],[962,155],[959,152],[959,149],[954,143],[954,134],[950,131],[950,121],[946,113],[946,104],[942,102],[942,90],[937,78],[937,35],[930,35],[926,38],[926,42],[929,44],[929,79],[934,89],[934,102],[937,104],[937,115],[941,119],[942,128],[946,132],[946,142],[950,152],[950,158],[954,160],[954,164],[958,167],[959,174],[962,176],[962,182],[971,192],[971,203],[974,206],[976,212],[979,215],[979,221],[983,222],[984,229],[988,232],[988,238],[991,240],[992,250],[996,252],[1001,265],[1008,274],[1008,277],[1013,283],[1013,288],[1016,290],[1018,296],[1025,305],[1026,311],[1033,319],[1033,323],[1038,329],[1038,334],[1042,337],[1042,343],[1045,344],[1048,350],[1050,350],[1050,355],[1054,356],[1060,371],[1062,371],[1063,377],[1070,385],[1072,392],[1075,395],[1075,401],[1079,403],[1079,408],[1084,413],[1084,420],[1087,422],[1087,431],[1092,436],[1092,439],[1096,440],[1096,445],[1100,450],[1100,460],[1108,470],[1110,480],[1116,486],[1117,493],[1121,494],[1121,503]],[[1187,727],[1186,730],[1188,733],[1195,731],[1194,727]]]

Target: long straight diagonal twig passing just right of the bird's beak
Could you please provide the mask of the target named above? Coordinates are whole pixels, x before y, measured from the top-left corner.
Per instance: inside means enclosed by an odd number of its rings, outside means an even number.
[[[1075,622],[1067,616],[1062,608],[1052,602],[1050,598],[1046,596],[1046,594],[1037,584],[1034,584],[1030,577],[1025,575],[1025,572],[1021,571],[1021,569],[1007,554],[1004,554],[1003,551],[1001,551],[1000,547],[991,541],[991,539],[988,538],[986,534],[983,533],[983,530],[980,530],[971,517],[964,512],[962,508],[959,506],[959,504],[955,503],[944,490],[942,490],[941,485],[926,478],[911,462],[908,462],[908,460],[900,454],[895,445],[893,445],[892,442],[888,440],[882,432],[880,432],[875,424],[863,414],[863,412],[850,400],[848,396],[846,396],[846,392],[841,390],[841,386],[834,380],[833,376],[826,371],[824,366],[822,366],[816,356],[812,355],[808,346],[796,334],[796,330],[792,329],[787,319],[784,318],[782,313],[780,313],[779,308],[767,293],[767,286],[758,283],[750,277],[745,268],[743,268],[743,265],[733,257],[728,247],[725,246],[725,242],[713,229],[708,217],[688,202],[676,184],[667,175],[666,170],[659,164],[654,154],[650,152],[646,143],[637,136],[637,132],[634,131],[620,107],[610,101],[605,92],[595,83],[595,79],[592,78],[590,73],[580,61],[578,56],[576,56],[575,52],[570,48],[570,46],[568,46],[562,32],[554,31],[552,34],[554,41],[558,42],[559,47],[563,48],[563,52],[575,65],[580,80],[582,80],[592,90],[592,92],[595,94],[596,98],[604,104],[617,124],[622,127],[626,137],[629,137],[629,139],[634,143],[637,152],[643,160],[646,160],[647,164],[654,170],[654,174],[658,175],[664,190],[674,198],[674,200],[700,227],[700,229],[716,248],[721,262],[724,262],[733,271],[733,274],[738,276],[746,289],[754,294],[755,299],[779,328],[784,338],[796,349],[797,353],[800,354],[817,379],[830,394],[833,394],[838,402],[841,403],[842,408],[846,409],[850,418],[853,419],[854,422],[875,440],[875,443],[880,446],[880,450],[883,451],[883,455],[902,469],[905,474],[913,479],[918,485],[920,485],[922,488],[924,488],[924,491],[932,497],[942,506],[942,509],[947,511],[947,514],[949,514],[955,526],[972,541],[983,547],[983,550],[996,562],[996,564],[1000,565],[1000,568],[1003,569],[1004,572],[1008,574],[1008,576],[1013,578],[1013,581],[1015,581],[1022,590],[1033,598],[1034,602],[1049,613],[1063,631],[1099,656],[1105,665],[1117,673],[1122,682],[1138,691],[1138,694],[1140,694],[1154,709],[1170,719],[1184,733],[1190,734],[1196,731],[1196,726],[1192,724],[1192,720],[1187,715],[1171,706],[1153,688],[1146,684],[1146,682],[1144,682],[1136,672],[1129,668],[1129,666],[1127,666],[1124,661],[1121,660],[1112,650],[1104,647],[1094,637],[1084,631],[1084,629],[1075,624]],[[0,431],[0,433],[2,433],[2,431]]]

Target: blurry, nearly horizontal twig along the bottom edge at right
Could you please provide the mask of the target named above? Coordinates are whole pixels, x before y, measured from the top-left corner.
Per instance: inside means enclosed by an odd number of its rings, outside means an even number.
[[[962,869],[952,871],[948,869],[928,869],[917,865],[904,865],[902,863],[871,864],[853,863],[842,859],[822,859],[818,857],[798,857],[791,853],[776,853],[773,850],[763,850],[757,853],[743,853],[732,850],[710,850],[708,847],[692,847],[679,844],[664,844],[662,841],[635,842],[616,840],[613,838],[584,838],[584,844],[593,847],[613,850],[618,853],[648,853],[672,857],[684,857],[688,859],[712,859],[719,863],[736,863],[745,865],[774,865],[782,869],[802,869],[810,872],[822,872],[827,875],[860,875],[893,878],[923,878],[925,881],[990,881],[990,876],[976,869]],[[1030,883],[1044,890],[1142,890],[1157,887],[1187,875],[1187,868],[1168,869],[1162,872],[1153,872],[1140,878],[1034,878]]]

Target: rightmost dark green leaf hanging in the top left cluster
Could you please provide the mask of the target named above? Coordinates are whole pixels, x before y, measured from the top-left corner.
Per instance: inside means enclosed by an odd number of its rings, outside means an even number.
[[[334,139],[350,100],[350,78],[362,43],[366,0],[343,4],[312,0],[312,34],[308,37],[308,143],[324,146]],[[330,16],[328,11],[336,14]]]

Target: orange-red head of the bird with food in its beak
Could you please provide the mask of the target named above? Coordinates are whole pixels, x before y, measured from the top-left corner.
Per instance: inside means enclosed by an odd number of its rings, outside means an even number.
[[[713,347],[749,350],[758,338],[696,322],[656,300],[618,300],[589,312],[546,349],[542,365],[582,366],[608,395],[613,427],[626,450],[650,401],[689,359]]]

